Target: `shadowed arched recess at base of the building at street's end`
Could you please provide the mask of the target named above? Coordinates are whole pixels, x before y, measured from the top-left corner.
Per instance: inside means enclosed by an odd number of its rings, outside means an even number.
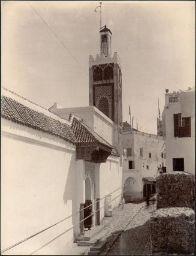
[[[123,197],[125,202],[128,203],[135,198],[135,192],[137,191],[137,182],[133,177],[128,177],[125,180],[123,187]]]

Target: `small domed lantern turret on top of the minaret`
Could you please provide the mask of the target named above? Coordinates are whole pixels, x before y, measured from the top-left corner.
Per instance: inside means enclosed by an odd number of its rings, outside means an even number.
[[[108,29],[106,27],[106,25],[104,26],[104,28],[102,28],[99,31],[100,34],[100,56],[104,55],[105,57],[107,57],[108,55],[110,55],[111,57],[111,31],[110,29]]]

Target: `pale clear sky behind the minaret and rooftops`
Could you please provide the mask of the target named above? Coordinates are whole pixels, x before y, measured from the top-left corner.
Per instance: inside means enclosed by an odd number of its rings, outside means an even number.
[[[89,106],[99,1],[1,1],[2,86],[47,109]],[[195,86],[194,1],[102,1],[122,67],[123,121],[156,134],[165,89]],[[58,38],[59,40],[58,40]],[[62,43],[64,46],[62,45]]]

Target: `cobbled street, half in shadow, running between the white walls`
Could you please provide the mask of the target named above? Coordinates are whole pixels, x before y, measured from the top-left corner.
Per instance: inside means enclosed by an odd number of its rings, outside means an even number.
[[[110,232],[101,255],[151,255],[149,219],[153,207],[146,207],[145,203],[129,203],[125,204],[124,210],[114,211],[116,227]]]

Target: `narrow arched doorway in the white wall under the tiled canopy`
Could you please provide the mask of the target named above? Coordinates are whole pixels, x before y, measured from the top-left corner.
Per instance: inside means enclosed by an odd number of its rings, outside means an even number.
[[[92,186],[91,186],[91,181],[89,177],[86,178],[85,180],[85,210],[84,210],[84,218],[88,217],[89,215],[92,214]],[[92,227],[92,216],[89,217],[88,219],[85,219],[84,221],[84,226],[85,228],[90,229]]]

